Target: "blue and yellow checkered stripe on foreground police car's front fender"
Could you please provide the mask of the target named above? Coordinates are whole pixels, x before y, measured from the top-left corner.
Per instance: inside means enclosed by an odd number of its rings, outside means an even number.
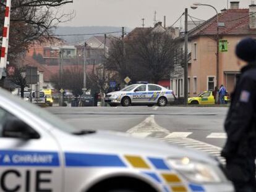
[[[66,167],[120,167],[124,169],[131,167],[160,185],[165,192],[205,191],[201,185],[184,183],[182,178],[173,172],[173,169],[162,158],[129,154],[119,156],[116,154],[66,152],[65,159]]]

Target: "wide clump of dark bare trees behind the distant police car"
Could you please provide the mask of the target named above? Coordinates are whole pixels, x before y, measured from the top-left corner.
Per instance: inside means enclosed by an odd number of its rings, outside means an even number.
[[[177,57],[177,43],[167,33],[148,30],[132,40],[115,41],[106,65],[119,72],[121,80],[158,83],[168,79]]]

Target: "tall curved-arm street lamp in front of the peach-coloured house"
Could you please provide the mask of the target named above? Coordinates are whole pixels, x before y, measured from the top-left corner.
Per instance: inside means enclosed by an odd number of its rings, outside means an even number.
[[[194,3],[191,7],[191,9],[197,9],[198,6],[208,6],[208,7],[211,7],[213,8],[215,11],[216,11],[216,15],[217,15],[217,38],[216,38],[216,86],[217,88],[219,87],[219,51],[220,51],[220,48],[219,48],[219,40],[220,40],[220,37],[219,37],[219,14],[218,14],[218,10],[209,5],[209,4],[202,4],[200,2],[197,2],[197,3]]]

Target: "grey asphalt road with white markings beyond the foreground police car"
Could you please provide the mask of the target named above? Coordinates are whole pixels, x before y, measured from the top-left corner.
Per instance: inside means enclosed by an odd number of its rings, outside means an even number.
[[[187,138],[218,148],[226,140],[223,122],[227,107],[49,107],[47,110],[82,129],[129,132],[166,141],[169,141],[166,138]]]

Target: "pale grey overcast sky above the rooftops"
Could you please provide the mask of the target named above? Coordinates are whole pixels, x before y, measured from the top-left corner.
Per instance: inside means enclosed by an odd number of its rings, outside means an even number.
[[[153,25],[155,10],[157,20],[163,21],[166,15],[167,25],[172,25],[184,9],[189,8],[193,2],[211,4],[218,10],[227,5],[227,0],[74,0],[74,4],[69,4],[64,9],[75,10],[76,17],[71,22],[62,25],[134,28],[141,27],[141,19],[145,18],[145,25],[149,27]],[[240,7],[248,8],[250,3],[251,0],[241,0]],[[198,7],[196,10],[189,8],[189,14],[205,20],[213,16],[215,11],[210,7]],[[177,27],[179,23],[177,22]]]

